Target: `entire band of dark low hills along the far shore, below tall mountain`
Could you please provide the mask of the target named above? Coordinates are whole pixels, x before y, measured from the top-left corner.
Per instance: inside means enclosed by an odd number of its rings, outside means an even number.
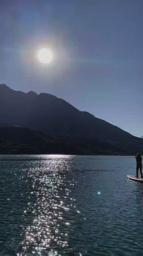
[[[133,155],[136,151],[85,136],[55,138],[30,128],[0,125],[0,154]]]

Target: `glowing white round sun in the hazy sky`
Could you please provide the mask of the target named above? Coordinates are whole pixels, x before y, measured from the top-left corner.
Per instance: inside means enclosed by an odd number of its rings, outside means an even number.
[[[40,49],[37,57],[41,63],[50,63],[53,59],[53,54],[49,49]]]

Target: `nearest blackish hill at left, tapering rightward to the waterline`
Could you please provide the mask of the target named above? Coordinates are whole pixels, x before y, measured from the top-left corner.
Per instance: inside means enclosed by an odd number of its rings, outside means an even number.
[[[93,154],[89,149],[26,127],[0,125],[0,154]]]

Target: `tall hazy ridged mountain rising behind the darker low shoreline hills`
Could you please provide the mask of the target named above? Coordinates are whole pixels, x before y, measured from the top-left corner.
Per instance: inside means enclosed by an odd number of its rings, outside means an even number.
[[[92,138],[125,150],[143,149],[142,138],[79,111],[63,99],[48,93],[14,91],[5,84],[0,85],[0,123],[26,126],[52,136],[66,136],[68,141],[69,137],[82,137],[82,141],[87,137],[90,138],[86,139],[88,145],[92,144]]]

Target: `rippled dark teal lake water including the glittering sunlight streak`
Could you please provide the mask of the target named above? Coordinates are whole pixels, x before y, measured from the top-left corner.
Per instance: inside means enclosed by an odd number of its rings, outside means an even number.
[[[132,156],[0,156],[0,255],[143,255]]]

